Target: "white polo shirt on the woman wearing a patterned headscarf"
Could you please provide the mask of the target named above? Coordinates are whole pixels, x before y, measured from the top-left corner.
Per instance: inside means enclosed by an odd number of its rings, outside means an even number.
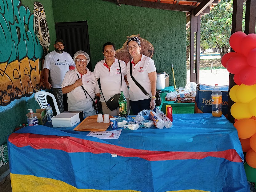
[[[133,62],[133,58],[132,58]],[[141,60],[134,66],[132,64],[132,75],[134,79],[150,94],[151,93],[151,83],[148,77],[148,74],[156,71],[155,63],[153,59],[146,57],[142,54]],[[142,90],[134,83],[130,75],[130,61],[127,63],[127,81],[129,82],[130,87],[130,100],[139,101],[144,99],[149,99]]]

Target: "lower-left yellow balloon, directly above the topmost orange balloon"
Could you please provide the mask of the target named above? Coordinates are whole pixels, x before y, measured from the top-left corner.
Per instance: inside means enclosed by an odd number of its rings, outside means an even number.
[[[234,103],[231,106],[230,112],[235,119],[246,119],[253,116],[249,110],[249,103]]]

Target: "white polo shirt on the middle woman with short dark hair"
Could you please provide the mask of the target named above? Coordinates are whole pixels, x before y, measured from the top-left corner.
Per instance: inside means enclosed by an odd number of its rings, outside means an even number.
[[[126,75],[126,64],[124,61],[120,61],[121,73],[122,73],[122,91],[125,98],[129,98],[129,90],[126,86],[124,76]],[[108,68],[104,65],[105,60],[99,61],[95,68],[94,74],[96,78],[100,79],[102,93],[106,101],[108,101],[113,95],[120,93],[121,90],[121,74],[118,64],[118,59],[115,58],[114,63]],[[101,94],[100,101],[105,102]]]

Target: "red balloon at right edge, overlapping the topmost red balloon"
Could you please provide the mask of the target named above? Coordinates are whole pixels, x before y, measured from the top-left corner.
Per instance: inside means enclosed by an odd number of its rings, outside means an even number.
[[[250,50],[253,50],[255,48],[256,48],[256,34],[251,33],[246,35],[246,37],[243,38],[241,42],[242,54],[244,56],[247,56]]]

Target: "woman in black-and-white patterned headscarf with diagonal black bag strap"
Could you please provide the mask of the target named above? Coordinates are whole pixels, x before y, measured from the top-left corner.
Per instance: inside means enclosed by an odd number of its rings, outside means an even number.
[[[153,59],[140,53],[141,43],[138,37],[131,37],[127,42],[128,52],[132,56],[127,63],[127,81],[130,86],[130,105],[134,115],[144,109],[154,110],[156,106],[156,67]],[[131,77],[141,85],[145,94]]]

